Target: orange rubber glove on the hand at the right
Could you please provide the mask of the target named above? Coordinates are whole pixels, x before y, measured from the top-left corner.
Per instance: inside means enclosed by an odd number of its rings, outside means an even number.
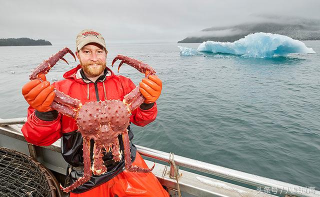
[[[145,76],[149,72],[145,72]],[[153,103],[161,94],[162,81],[156,75],[149,75],[148,78],[143,78],[139,83],[140,92],[145,97],[144,103]]]

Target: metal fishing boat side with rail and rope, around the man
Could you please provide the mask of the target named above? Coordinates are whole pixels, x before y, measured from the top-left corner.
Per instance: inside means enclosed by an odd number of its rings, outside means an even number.
[[[25,121],[26,117],[0,119],[0,147],[24,153],[40,162],[52,175],[56,196],[64,196],[58,185],[65,178],[67,163],[60,154],[60,140],[49,146],[26,142],[21,133]],[[152,172],[171,196],[320,196],[320,191],[314,187],[290,184],[140,145],[136,147],[149,167],[155,162]]]

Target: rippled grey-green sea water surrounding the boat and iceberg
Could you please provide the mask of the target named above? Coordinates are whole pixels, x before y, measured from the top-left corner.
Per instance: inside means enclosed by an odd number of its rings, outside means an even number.
[[[315,53],[247,58],[180,53],[199,43],[108,44],[107,64],[122,53],[162,79],[158,116],[132,126],[135,144],[319,190],[320,40],[303,42]],[[26,116],[22,85],[64,46],[0,47],[0,118]],[[78,63],[65,58],[70,65],[59,61],[49,81]],[[119,74],[135,84],[144,76],[128,65]]]

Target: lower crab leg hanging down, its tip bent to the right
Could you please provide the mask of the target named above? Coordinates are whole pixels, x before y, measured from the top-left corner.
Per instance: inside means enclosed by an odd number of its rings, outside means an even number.
[[[125,159],[125,169],[131,172],[151,172],[154,165],[151,168],[142,168],[137,165],[132,165],[131,152],[130,152],[130,142],[128,131],[126,130],[122,134],[123,147],[124,147],[124,159]]]

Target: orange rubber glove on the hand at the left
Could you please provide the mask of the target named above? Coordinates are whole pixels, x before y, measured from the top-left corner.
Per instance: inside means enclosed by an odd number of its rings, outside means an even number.
[[[52,110],[50,105],[55,96],[54,87],[50,85],[49,81],[46,81],[44,74],[39,74],[38,77],[43,81],[34,79],[25,83],[22,87],[22,94],[27,103],[36,110],[41,112],[50,111]]]

